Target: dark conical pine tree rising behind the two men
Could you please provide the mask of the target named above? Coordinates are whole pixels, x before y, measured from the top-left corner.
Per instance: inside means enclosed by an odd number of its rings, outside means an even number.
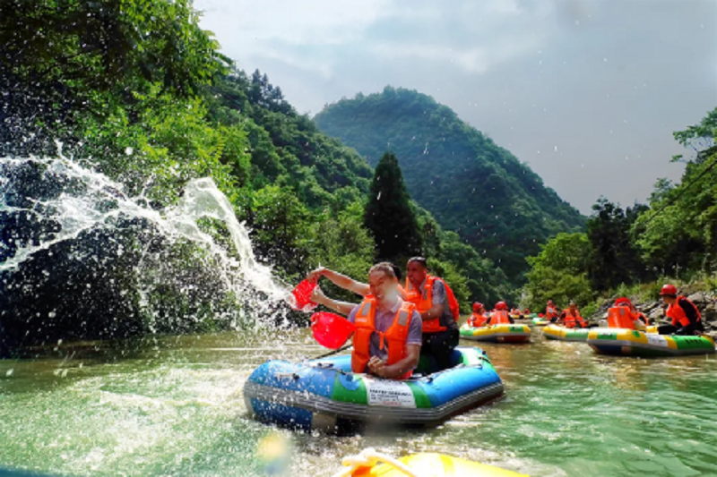
[[[369,194],[364,225],[376,239],[378,259],[398,261],[419,254],[419,226],[392,152],[384,153],[376,165]]]

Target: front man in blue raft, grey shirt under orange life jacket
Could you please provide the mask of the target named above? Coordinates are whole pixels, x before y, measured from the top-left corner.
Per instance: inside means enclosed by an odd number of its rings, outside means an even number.
[[[419,364],[420,314],[413,303],[402,300],[392,264],[374,265],[368,272],[368,287],[358,305],[332,300],[318,287],[311,300],[340,313],[350,309],[349,321],[356,325],[351,371],[406,379]]]

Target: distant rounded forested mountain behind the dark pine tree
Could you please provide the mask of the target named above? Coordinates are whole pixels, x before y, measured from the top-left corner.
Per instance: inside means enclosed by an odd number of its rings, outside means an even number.
[[[359,93],[324,107],[315,123],[372,165],[384,150],[395,152],[413,199],[514,281],[540,243],[583,226],[530,166],[415,90]]]

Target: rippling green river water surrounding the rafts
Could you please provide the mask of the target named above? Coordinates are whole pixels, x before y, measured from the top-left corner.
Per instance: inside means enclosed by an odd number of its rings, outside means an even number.
[[[468,344],[468,343],[463,343]],[[0,361],[0,467],[59,475],[263,475],[257,445],[290,443],[288,475],[341,457],[441,452],[531,475],[717,474],[717,358],[595,355],[584,344],[482,345],[505,398],[432,430],[336,437],[246,416],[272,358],[325,350],[307,330],[62,344]]]

